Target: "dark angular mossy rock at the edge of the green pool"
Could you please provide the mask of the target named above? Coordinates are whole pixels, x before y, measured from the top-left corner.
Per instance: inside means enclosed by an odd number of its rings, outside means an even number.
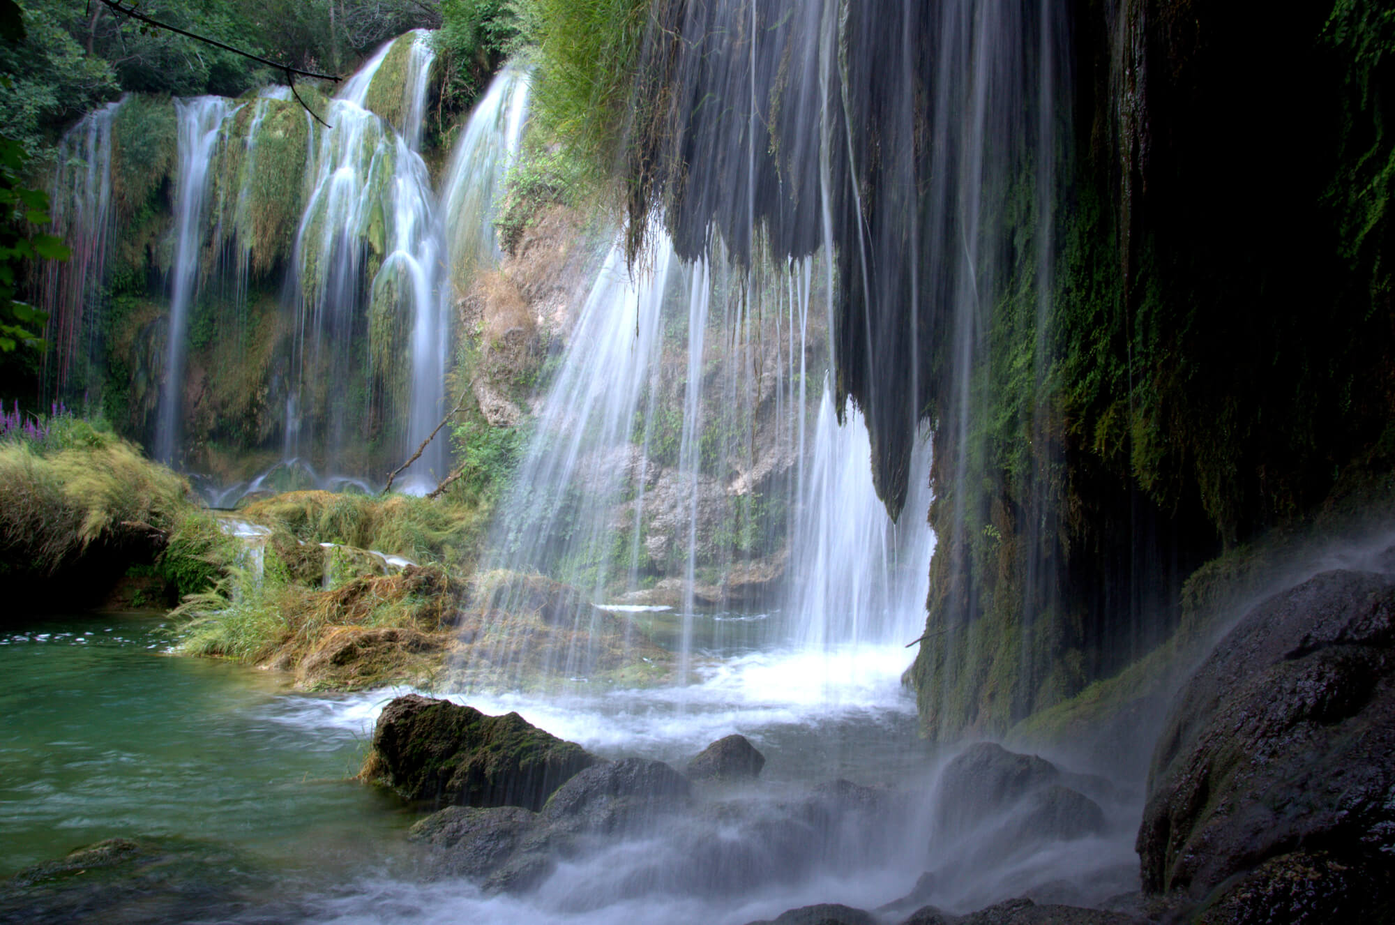
[[[518,713],[485,716],[409,693],[378,717],[363,776],[407,799],[536,811],[597,762],[580,745],[544,732]]]

